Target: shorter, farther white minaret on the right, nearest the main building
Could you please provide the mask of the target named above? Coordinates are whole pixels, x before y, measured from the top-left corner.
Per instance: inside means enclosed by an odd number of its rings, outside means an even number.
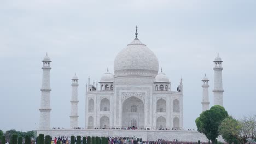
[[[206,110],[209,110],[209,91],[208,91],[208,88],[209,88],[209,85],[208,85],[208,78],[206,77],[203,77],[202,79],[202,112],[203,111],[206,111]]]

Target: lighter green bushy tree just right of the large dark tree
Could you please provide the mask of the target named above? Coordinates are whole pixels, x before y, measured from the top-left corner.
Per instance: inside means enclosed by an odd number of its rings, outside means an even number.
[[[240,131],[241,124],[231,116],[225,118],[219,126],[219,133],[222,135],[223,139],[228,143],[240,143]]]

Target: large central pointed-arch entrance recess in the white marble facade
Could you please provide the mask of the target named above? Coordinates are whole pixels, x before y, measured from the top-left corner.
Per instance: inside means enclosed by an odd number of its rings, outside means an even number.
[[[122,127],[144,127],[144,104],[141,99],[130,97],[124,101]]]

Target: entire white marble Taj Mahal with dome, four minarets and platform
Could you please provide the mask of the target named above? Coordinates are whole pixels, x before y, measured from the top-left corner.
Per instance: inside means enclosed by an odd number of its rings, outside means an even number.
[[[65,129],[50,127],[51,60],[46,55],[42,62],[42,95],[37,134],[207,141],[196,130],[183,129],[183,79],[178,86],[171,85],[165,71],[159,68],[158,57],[138,39],[137,27],[135,39],[114,59],[114,74],[107,69],[100,82],[91,83],[90,78],[88,79],[85,99],[78,99],[78,76],[72,77],[70,124]],[[213,61],[213,104],[223,106],[222,62],[219,54]],[[202,79],[202,111],[210,108],[208,81],[205,75]],[[80,100],[85,100],[84,125],[78,125]],[[84,129],[74,129],[75,127]]]

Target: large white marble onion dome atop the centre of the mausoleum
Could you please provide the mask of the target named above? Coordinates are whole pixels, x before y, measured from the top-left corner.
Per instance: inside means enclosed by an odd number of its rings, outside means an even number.
[[[136,38],[115,57],[114,74],[156,76],[158,67],[154,52]]]

